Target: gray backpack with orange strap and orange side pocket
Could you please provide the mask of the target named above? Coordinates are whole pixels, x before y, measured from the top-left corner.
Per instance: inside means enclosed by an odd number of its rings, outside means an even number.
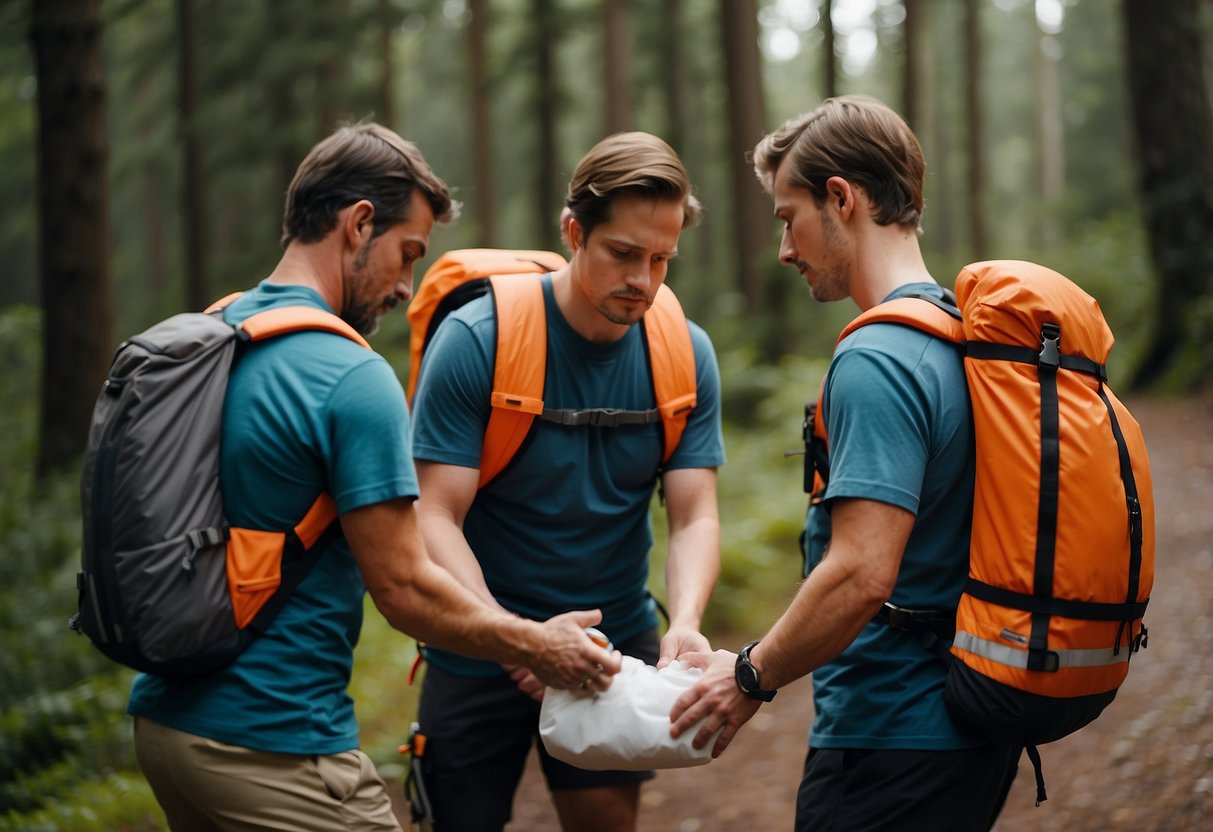
[[[311,307],[233,326],[222,318],[229,300],[123,342],[93,408],[80,478],[79,611],[69,626],[146,673],[200,676],[230,663],[340,534],[328,494],[291,530],[230,526],[218,475],[223,399],[249,342],[321,330],[370,347]]]

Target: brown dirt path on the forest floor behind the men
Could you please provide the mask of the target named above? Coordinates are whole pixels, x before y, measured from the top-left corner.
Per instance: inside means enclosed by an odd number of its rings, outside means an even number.
[[[1041,748],[1049,799],[1040,807],[1020,760],[996,832],[1213,828],[1213,399],[1129,405],[1145,431],[1157,514],[1150,644],[1098,720]],[[810,699],[801,679],[719,759],[659,773],[640,792],[642,832],[791,830]],[[506,828],[559,832],[534,754]]]

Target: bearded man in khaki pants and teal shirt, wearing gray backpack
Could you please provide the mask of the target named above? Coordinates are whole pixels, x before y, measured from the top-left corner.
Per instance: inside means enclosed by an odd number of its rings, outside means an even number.
[[[343,127],[303,160],[286,198],[277,268],[229,323],[309,306],[369,335],[412,290],[435,221],[456,206],[416,147],[385,127]],[[221,488],[247,529],[294,526],[328,491],[341,535],[267,632],[193,680],[141,676],[129,706],[141,768],[173,830],[398,830],[358,748],[347,694],[369,591],[388,622],[426,642],[529,666],[548,684],[605,688],[619,659],[583,627],[492,609],[427,555],[404,393],[378,354],[296,332],[247,347],[228,384]]]

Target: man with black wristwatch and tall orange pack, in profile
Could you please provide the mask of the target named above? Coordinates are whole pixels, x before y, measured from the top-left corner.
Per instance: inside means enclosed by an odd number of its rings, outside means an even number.
[[[922,149],[892,109],[830,98],[763,138],[754,170],[784,224],[780,260],[814,300],[867,310],[944,297],[918,246]],[[707,717],[694,743],[723,726],[719,754],[762,701],[811,672],[797,830],[989,830],[1019,748],[958,730],[944,662],[873,620],[885,603],[955,610],[968,576],[974,450],[962,353],[898,324],[861,326],[835,351],[822,411],[828,485],[807,519],[805,581],[761,642],[694,657],[708,669],[674,703],[672,731]]]

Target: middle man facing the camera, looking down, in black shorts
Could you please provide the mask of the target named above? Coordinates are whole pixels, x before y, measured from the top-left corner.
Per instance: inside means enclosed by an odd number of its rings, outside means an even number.
[[[579,163],[563,220],[569,264],[542,278],[545,409],[655,406],[637,324],[700,207],[682,161],[649,133],[619,133]],[[511,465],[478,489],[491,410],[491,297],[449,315],[426,351],[414,454],[426,545],[486,603],[545,619],[591,605],[623,654],[666,663],[704,650],[700,621],[719,571],[716,468],[724,462],[712,344],[689,324],[696,405],[662,466],[660,423],[598,427],[535,420]],[[645,585],[649,505],[661,481],[670,523],[670,627],[660,639]],[[460,651],[462,653],[462,651]],[[427,650],[423,770],[440,828],[500,830],[539,736],[543,686],[519,668]],[[539,747],[565,830],[636,828],[650,773],[583,771]]]

